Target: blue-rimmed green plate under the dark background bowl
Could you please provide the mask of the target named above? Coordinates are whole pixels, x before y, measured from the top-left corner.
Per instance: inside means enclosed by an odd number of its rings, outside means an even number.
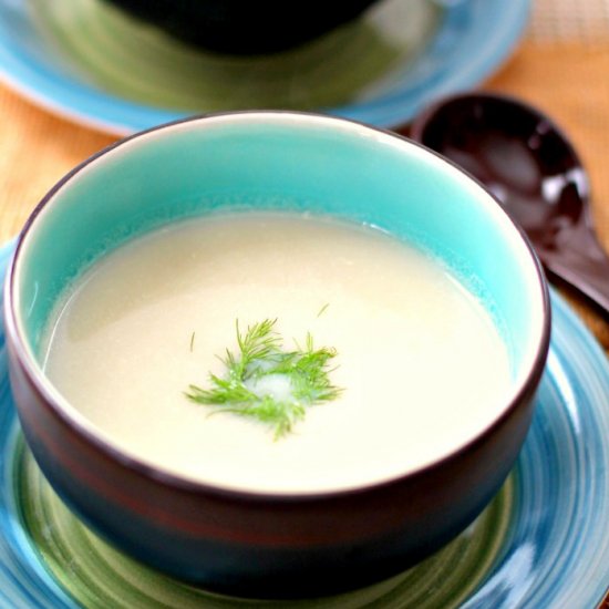
[[[0,0],[0,74],[40,105],[112,133],[246,107],[392,126],[493,73],[529,2],[382,0],[299,50],[238,59],[195,52],[102,0]]]

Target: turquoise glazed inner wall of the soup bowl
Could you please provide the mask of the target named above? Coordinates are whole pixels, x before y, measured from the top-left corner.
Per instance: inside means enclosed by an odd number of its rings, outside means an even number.
[[[515,394],[538,359],[547,314],[539,267],[477,183],[419,145],[355,123],[237,113],[123,141],[42,202],[13,271],[17,327],[34,368],[59,295],[93,260],[166,223],[228,209],[324,214],[413,241],[487,304],[510,352]]]

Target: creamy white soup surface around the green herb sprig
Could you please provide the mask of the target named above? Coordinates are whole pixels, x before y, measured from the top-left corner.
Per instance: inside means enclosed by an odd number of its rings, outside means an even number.
[[[336,400],[278,440],[185,396],[221,376],[240,328],[277,319],[337,351]],[[271,213],[177,223],[96,262],[58,307],[44,368],[126,453],[183,477],[310,493],[386,479],[445,455],[504,406],[507,350],[432,257],[384,233]]]

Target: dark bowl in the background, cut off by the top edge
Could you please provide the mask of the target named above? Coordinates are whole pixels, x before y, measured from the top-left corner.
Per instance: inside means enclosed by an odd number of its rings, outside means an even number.
[[[375,0],[105,0],[177,39],[218,53],[277,53],[360,16]]]

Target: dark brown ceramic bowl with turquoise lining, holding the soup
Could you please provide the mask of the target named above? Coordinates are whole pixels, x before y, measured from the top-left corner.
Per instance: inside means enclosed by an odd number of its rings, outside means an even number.
[[[465,270],[503,322],[514,383],[500,412],[419,469],[309,493],[194,483],[102,436],[41,369],[41,336],[58,295],[117,242],[234,206],[373,225]],[[106,148],[44,197],[20,237],[7,281],[11,385],[27,442],[52,486],[124,551],[238,596],[361,587],[403,570],[464,529],[518,455],[548,350],[543,271],[492,195],[413,142],[314,114],[209,115]]]

